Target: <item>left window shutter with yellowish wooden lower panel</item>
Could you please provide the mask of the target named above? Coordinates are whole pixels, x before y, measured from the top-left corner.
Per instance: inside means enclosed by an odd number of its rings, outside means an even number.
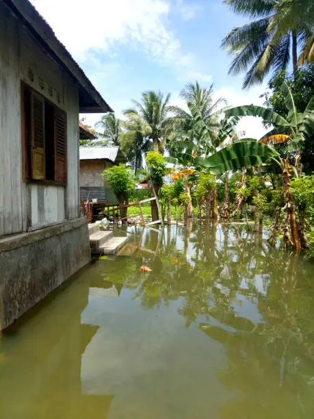
[[[31,178],[45,178],[44,99],[31,94]]]

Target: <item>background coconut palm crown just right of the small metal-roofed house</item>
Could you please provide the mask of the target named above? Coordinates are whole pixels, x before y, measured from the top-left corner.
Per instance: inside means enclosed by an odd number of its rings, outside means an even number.
[[[125,116],[138,116],[149,127],[149,132],[143,133],[145,138],[151,142],[151,149],[163,153],[164,140],[167,133],[167,118],[170,112],[168,105],[170,93],[163,97],[163,94],[149,90],[142,93],[141,101],[133,100],[133,108],[125,110]]]

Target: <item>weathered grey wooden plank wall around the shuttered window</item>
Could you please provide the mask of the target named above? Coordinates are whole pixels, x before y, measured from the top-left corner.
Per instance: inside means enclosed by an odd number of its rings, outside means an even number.
[[[66,188],[23,182],[21,81],[38,90],[67,114]],[[27,231],[29,216],[32,229],[79,216],[78,138],[77,85],[42,51],[37,41],[0,1],[0,236]]]

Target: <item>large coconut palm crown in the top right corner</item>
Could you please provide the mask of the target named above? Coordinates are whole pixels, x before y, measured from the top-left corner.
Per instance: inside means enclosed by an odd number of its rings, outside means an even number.
[[[313,2],[309,0],[225,0],[237,14],[253,21],[234,28],[222,47],[235,58],[229,73],[246,72],[243,88],[261,83],[270,71],[285,70],[292,55],[298,68],[298,47],[313,36]],[[307,55],[306,55],[307,56]]]

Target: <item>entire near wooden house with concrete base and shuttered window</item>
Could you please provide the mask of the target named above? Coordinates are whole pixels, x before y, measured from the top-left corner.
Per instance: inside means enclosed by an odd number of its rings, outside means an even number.
[[[113,112],[28,0],[0,0],[0,329],[90,260],[79,112]]]

